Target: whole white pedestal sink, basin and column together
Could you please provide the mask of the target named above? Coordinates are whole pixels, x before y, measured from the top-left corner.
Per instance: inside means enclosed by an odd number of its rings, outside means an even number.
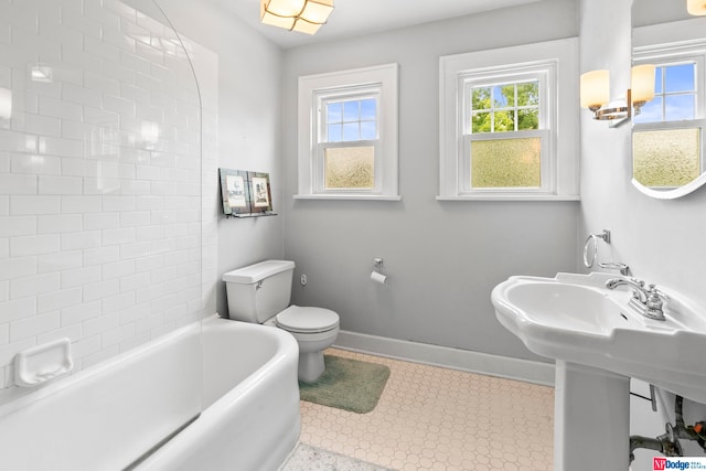
[[[630,377],[706,403],[706,311],[664,290],[666,320],[629,307],[614,276],[511,277],[492,292],[495,314],[532,352],[556,360],[557,471],[629,464]]]

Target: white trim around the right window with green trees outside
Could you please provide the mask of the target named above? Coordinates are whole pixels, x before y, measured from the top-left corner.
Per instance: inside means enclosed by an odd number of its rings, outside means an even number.
[[[437,200],[513,200],[513,201],[575,201],[579,200],[578,139],[578,40],[576,38],[527,44],[498,50],[442,56],[439,61],[439,195]],[[555,77],[549,89],[552,136],[547,142],[549,180],[536,189],[466,189],[468,159],[463,157],[464,137],[459,97],[463,96],[463,77],[491,73],[496,76],[503,67],[517,71],[523,65],[554,62]],[[511,76],[518,75],[516,72]],[[510,137],[510,136],[509,136]],[[543,175],[544,176],[544,175]]]

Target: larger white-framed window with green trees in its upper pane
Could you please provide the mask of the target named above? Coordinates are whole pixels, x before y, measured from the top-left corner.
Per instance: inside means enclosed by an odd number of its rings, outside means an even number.
[[[441,57],[438,199],[578,199],[576,55],[571,39]]]

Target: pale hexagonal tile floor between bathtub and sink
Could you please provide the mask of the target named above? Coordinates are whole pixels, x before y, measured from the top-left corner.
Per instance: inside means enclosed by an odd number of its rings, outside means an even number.
[[[552,470],[554,389],[330,349],[383,363],[370,414],[301,402],[303,443],[396,470]]]

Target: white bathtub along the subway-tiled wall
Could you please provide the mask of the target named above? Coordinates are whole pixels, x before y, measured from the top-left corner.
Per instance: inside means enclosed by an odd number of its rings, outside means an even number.
[[[297,362],[287,332],[214,315],[0,407],[0,469],[276,470]]]

